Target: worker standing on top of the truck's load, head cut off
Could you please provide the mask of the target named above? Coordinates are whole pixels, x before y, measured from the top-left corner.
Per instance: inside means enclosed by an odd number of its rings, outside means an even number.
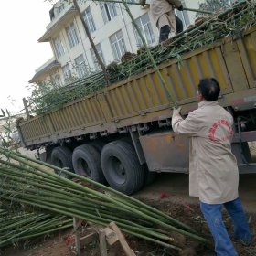
[[[142,6],[145,0],[140,0]],[[159,43],[168,39],[170,32],[180,33],[183,31],[183,23],[175,14],[174,8],[183,10],[180,0],[152,0],[150,5],[151,14],[155,25],[160,31]]]

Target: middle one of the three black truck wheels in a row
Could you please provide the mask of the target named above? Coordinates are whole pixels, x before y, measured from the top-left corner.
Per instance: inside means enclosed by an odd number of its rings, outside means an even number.
[[[101,155],[91,144],[82,144],[76,147],[72,162],[77,175],[88,176],[102,184],[106,183],[101,169]]]

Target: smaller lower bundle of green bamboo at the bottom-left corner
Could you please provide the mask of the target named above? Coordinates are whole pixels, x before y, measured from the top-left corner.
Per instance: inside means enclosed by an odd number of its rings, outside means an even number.
[[[0,208],[0,248],[72,226],[71,218],[49,212],[25,210],[12,202]]]

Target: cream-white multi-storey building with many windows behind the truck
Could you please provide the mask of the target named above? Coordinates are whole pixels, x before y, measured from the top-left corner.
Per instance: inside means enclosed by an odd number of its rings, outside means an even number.
[[[120,61],[126,51],[136,52],[142,46],[123,4],[82,2],[82,16],[105,65],[113,60]],[[199,1],[183,2],[184,6],[197,8]],[[147,44],[157,44],[159,32],[150,15],[149,7],[130,5],[130,9]],[[177,11],[176,14],[183,20],[185,28],[195,18],[193,12]],[[51,80],[57,85],[63,85],[70,77],[81,78],[93,70],[100,69],[74,6],[59,0],[53,5],[49,15],[47,31],[38,41],[49,42],[54,57],[36,70],[30,82]]]

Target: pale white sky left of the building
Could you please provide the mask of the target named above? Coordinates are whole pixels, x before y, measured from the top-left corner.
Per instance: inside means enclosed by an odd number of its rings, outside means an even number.
[[[35,70],[53,57],[49,43],[37,40],[46,32],[51,4],[44,0],[1,2],[0,108],[15,114],[23,109],[22,98]]]

